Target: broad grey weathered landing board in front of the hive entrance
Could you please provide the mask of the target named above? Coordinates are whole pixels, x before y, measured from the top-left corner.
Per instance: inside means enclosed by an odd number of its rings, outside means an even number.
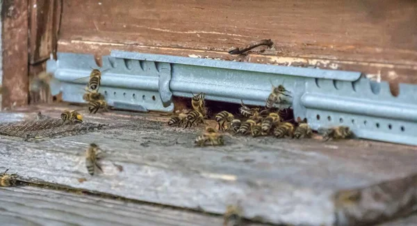
[[[411,177],[417,173],[415,147],[236,136],[227,137],[224,147],[197,148],[193,140],[199,130],[168,128],[142,120],[145,114],[129,114],[85,115],[86,122],[113,129],[82,136],[40,143],[2,137],[0,166],[8,163],[27,181],[211,213],[240,202],[246,218],[271,223],[356,225],[416,207],[415,195],[410,195],[417,186],[416,176]],[[83,162],[83,150],[91,142],[106,152],[104,173],[95,177]],[[384,181],[389,182],[375,186]],[[350,200],[352,194],[359,199]]]

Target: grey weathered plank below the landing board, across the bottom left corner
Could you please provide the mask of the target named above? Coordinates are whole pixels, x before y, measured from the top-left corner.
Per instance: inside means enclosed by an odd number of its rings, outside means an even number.
[[[0,202],[0,225],[222,225],[222,216],[31,186],[0,189]]]

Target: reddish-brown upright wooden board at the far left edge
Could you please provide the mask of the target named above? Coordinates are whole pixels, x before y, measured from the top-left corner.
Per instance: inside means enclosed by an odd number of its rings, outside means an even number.
[[[3,1],[2,108],[28,102],[28,1]]]

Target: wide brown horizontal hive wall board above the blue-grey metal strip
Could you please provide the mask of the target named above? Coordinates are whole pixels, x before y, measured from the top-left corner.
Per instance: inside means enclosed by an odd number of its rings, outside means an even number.
[[[416,65],[415,1],[67,1],[60,38]],[[111,19],[109,19],[111,18]]]

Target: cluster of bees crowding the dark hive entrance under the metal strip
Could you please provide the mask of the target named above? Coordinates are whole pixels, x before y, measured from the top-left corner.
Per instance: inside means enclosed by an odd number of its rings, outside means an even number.
[[[265,106],[250,108],[240,101],[238,111],[240,115],[234,115],[228,111],[220,111],[214,116],[217,122],[216,129],[207,127],[201,136],[195,140],[195,144],[199,146],[205,145],[223,145],[223,136],[220,133],[229,132],[234,135],[247,135],[252,137],[258,136],[274,136],[275,138],[311,138],[312,129],[304,119],[301,122],[295,122],[293,109],[277,108],[276,104],[286,103],[286,97],[291,97],[291,92],[283,85],[274,86],[268,98],[265,99]],[[206,124],[204,120],[207,118],[207,108],[204,101],[205,94],[203,92],[197,95],[193,94],[191,106],[193,110],[186,109],[175,113],[168,121],[169,126],[184,126],[185,128],[193,125]],[[330,129],[321,129],[325,140],[351,138],[352,131],[349,127],[335,127]]]

